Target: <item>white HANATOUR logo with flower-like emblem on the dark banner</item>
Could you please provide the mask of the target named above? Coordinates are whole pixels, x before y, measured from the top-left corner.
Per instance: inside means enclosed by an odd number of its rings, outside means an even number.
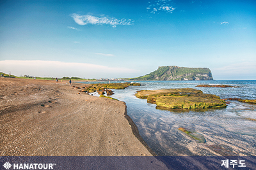
[[[53,166],[56,164],[10,164],[10,162],[5,162],[3,167],[5,169],[10,169],[13,166],[13,169],[53,169]]]

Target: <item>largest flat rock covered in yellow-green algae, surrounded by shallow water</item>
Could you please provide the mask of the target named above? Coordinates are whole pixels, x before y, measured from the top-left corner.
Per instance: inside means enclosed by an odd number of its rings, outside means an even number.
[[[201,90],[186,89],[163,89],[163,90],[140,90],[136,97],[147,99],[148,103],[156,104],[159,108],[169,109],[205,109],[225,108],[225,101],[213,94],[203,94]]]

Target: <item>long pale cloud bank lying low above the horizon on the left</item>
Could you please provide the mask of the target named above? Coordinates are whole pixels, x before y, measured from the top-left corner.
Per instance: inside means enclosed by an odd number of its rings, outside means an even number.
[[[130,77],[139,71],[124,66],[108,67],[79,62],[61,62],[50,60],[0,60],[0,71],[20,76],[78,76],[81,78],[120,78]]]

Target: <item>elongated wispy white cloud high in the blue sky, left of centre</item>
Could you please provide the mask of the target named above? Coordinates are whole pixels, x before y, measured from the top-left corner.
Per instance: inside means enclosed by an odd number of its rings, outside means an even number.
[[[111,25],[112,27],[116,27],[116,25],[132,25],[132,20],[130,19],[116,19],[116,18],[110,18],[110,17],[95,17],[92,15],[79,15],[76,13],[73,13],[70,15],[72,18],[74,18],[74,21],[79,24],[79,25],[87,25],[87,24],[92,24],[92,25]]]

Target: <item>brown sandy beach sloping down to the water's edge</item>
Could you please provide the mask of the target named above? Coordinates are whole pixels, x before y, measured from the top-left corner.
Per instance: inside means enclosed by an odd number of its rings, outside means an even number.
[[[66,81],[0,78],[0,85],[1,156],[154,155],[122,101],[78,94]]]

